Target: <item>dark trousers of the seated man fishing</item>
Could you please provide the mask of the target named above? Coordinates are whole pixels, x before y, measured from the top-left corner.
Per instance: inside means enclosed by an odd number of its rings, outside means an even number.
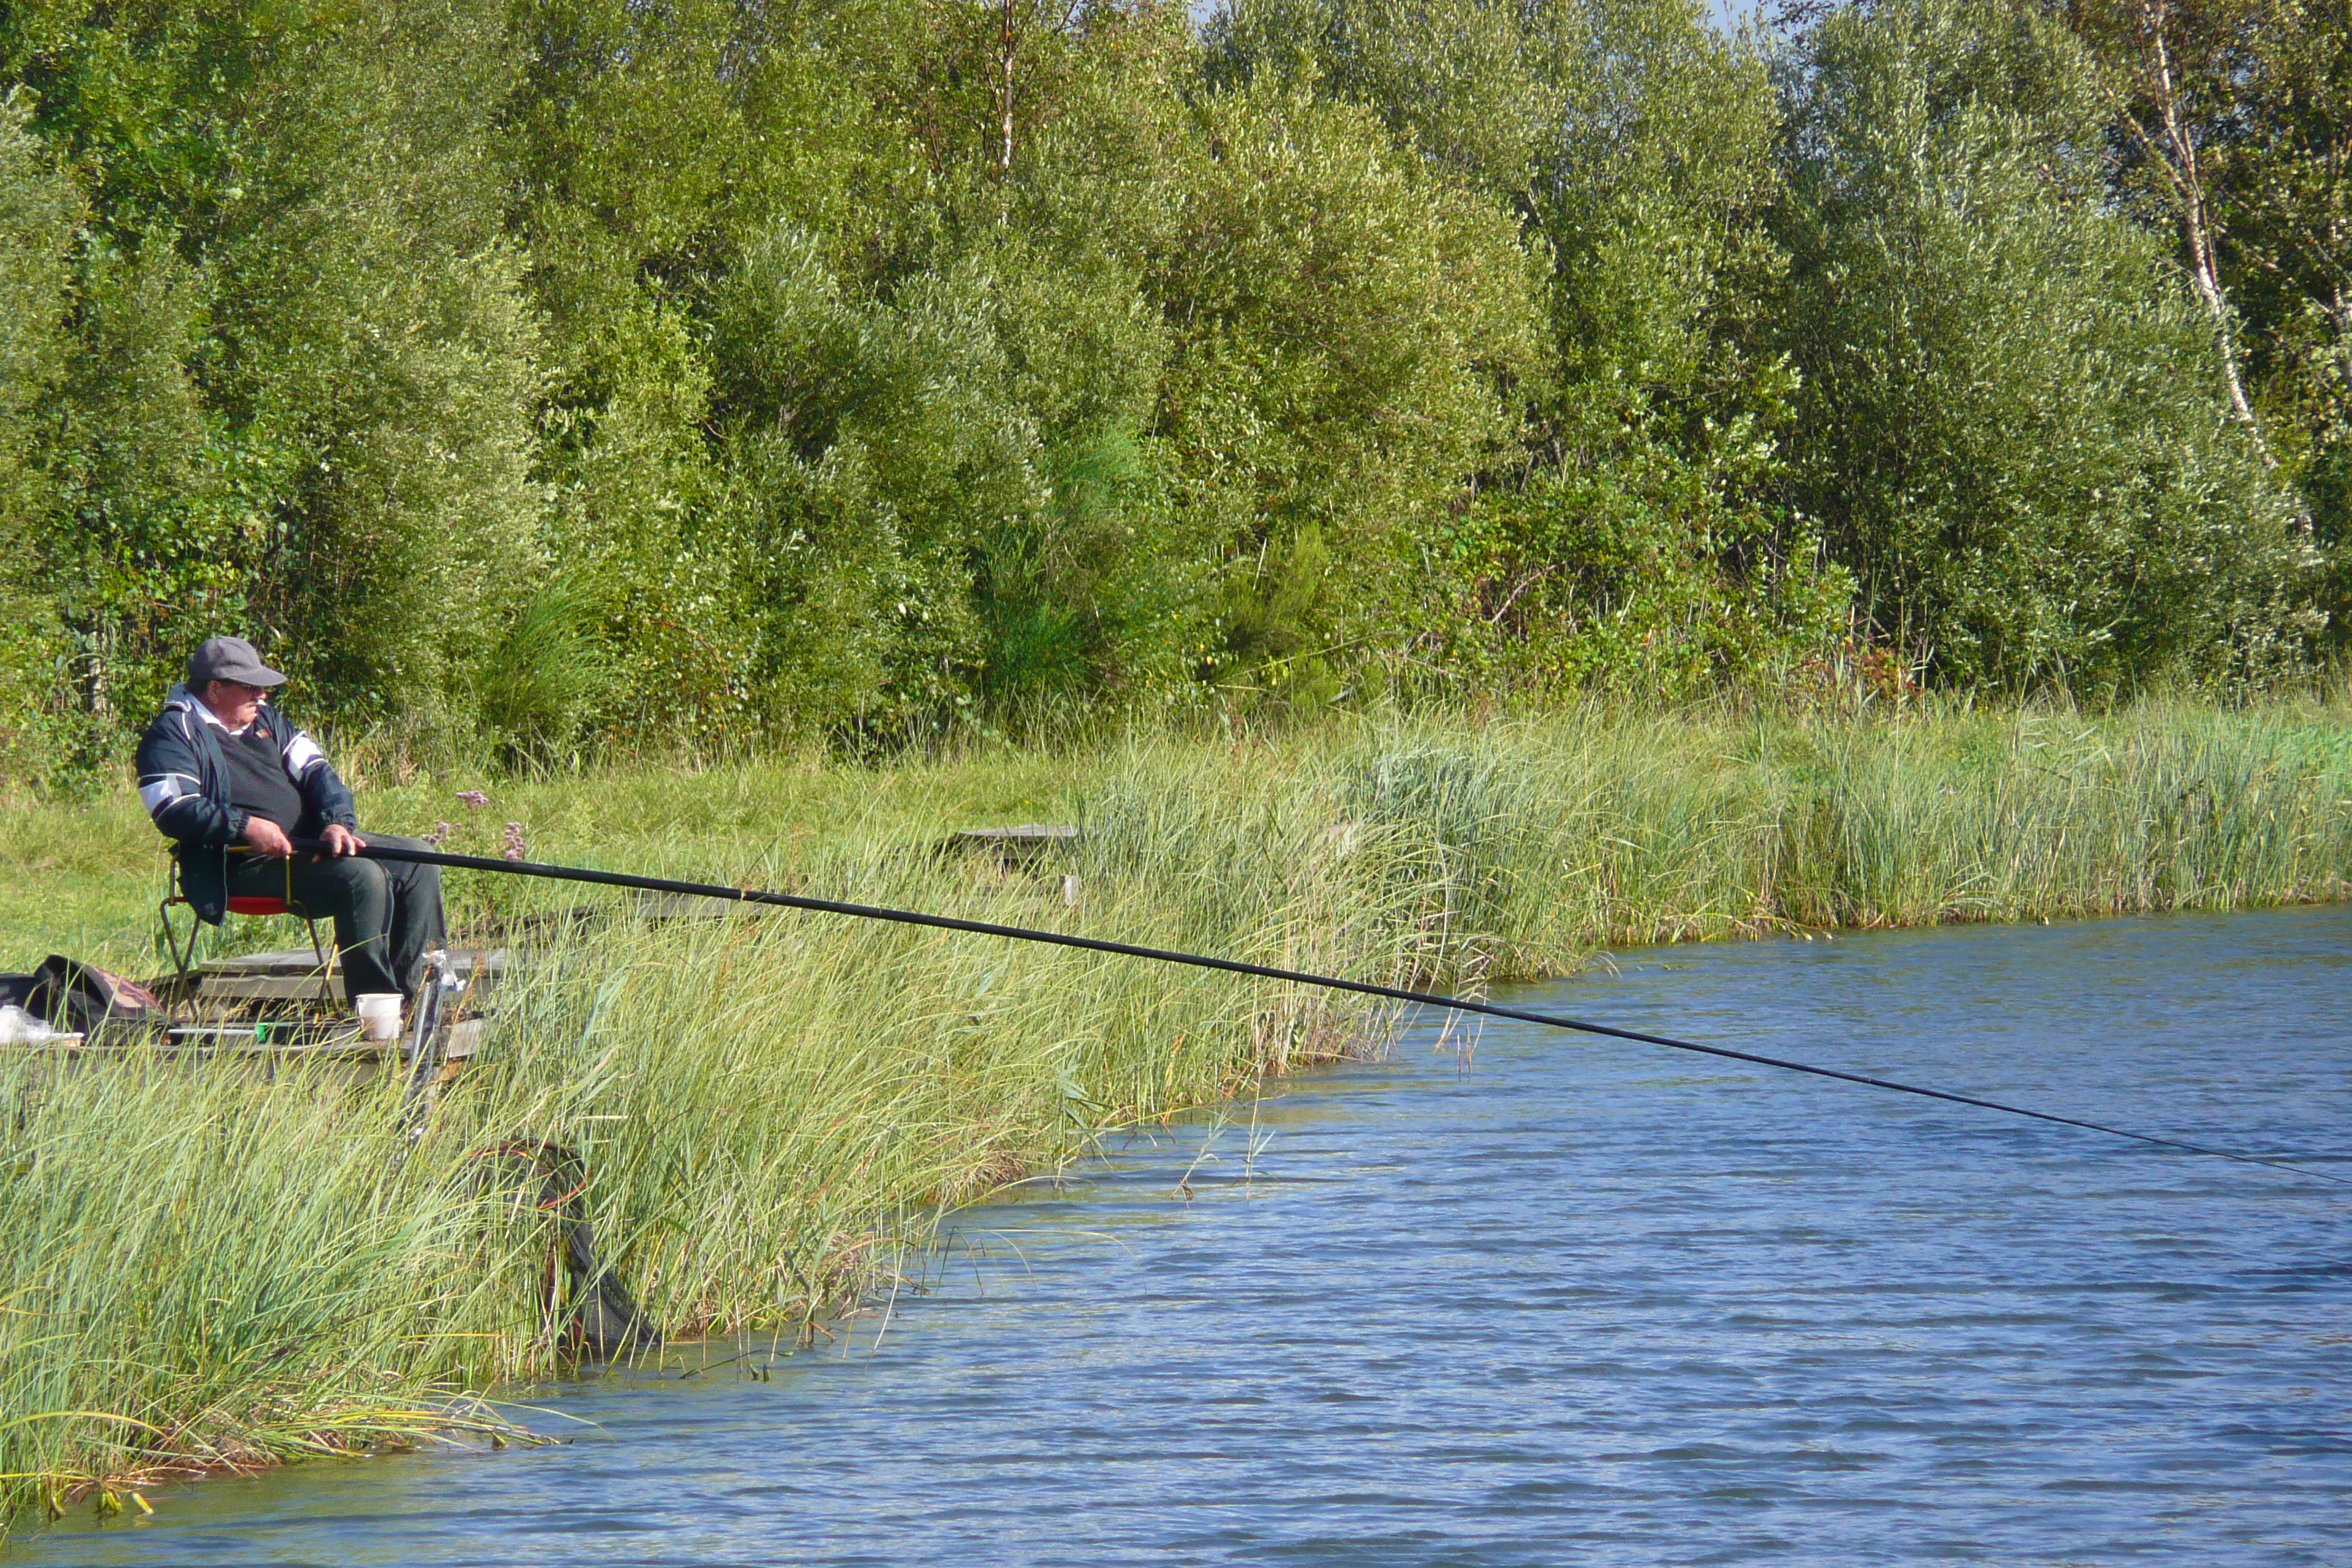
[[[369,844],[433,849],[419,839],[362,832]],[[343,957],[343,994],[409,994],[423,978],[426,947],[447,947],[440,907],[440,867],[407,860],[336,856],[256,860],[233,856],[228,891],[238,898],[285,898],[310,919],[334,917],[334,947]]]

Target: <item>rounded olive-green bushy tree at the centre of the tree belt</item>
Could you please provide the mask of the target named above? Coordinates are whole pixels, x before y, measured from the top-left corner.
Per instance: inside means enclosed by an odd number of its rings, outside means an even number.
[[[1225,552],[1211,670],[1315,679],[1414,602],[1404,550],[1512,437],[1536,280],[1498,207],[1352,106],[1254,82],[1197,113],[1207,155],[1152,280],[1185,322],[1162,390],[1176,508]]]

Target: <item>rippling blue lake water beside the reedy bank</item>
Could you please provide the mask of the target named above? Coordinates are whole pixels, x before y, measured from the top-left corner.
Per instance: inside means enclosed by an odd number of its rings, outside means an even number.
[[[2338,907],[1512,999],[2352,1173],[2347,983]],[[962,1215],[887,1328],[767,1380],[586,1382],[562,1448],[207,1481],[21,1561],[2352,1563],[2352,1190],[1432,1041]]]

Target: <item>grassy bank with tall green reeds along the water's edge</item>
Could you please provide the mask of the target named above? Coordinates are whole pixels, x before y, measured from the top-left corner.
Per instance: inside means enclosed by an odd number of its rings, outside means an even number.
[[[2352,729],[2331,710],[1555,717],[1272,741],[990,750],[513,785],[353,769],[372,825],[534,858],[790,884],[1364,978],[1562,971],[1602,943],[2336,898]],[[492,792],[468,813],[463,788]],[[1080,896],[938,856],[1082,820]],[[136,802],[19,802],[0,964],[153,969]],[[454,884],[461,919],[576,889]],[[252,943],[285,931],[254,929]],[[670,1333],[790,1335],[924,1215],[1089,1131],[1376,1041],[1277,987],[795,914],[619,924],[508,997],[395,1159],[390,1103],[299,1074],[12,1056],[0,1481],[14,1505],[172,1460],[400,1441],[553,1356],[548,1218],[482,1150],[583,1150],[597,1234]]]

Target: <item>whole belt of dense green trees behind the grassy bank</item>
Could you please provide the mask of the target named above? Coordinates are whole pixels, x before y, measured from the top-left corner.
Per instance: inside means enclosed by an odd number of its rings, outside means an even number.
[[[1755,686],[1856,588],[1955,684],[2288,670],[2345,59],[2244,2],[2251,465],[2032,9],[1776,92],[1696,0],[7,7],[7,766],[221,630],[534,762]]]

